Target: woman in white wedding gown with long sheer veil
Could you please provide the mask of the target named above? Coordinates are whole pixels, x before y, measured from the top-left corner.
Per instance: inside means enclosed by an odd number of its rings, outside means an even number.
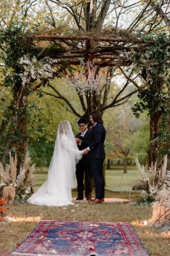
[[[82,156],[83,150],[78,150],[70,123],[60,122],[48,178],[27,202],[47,206],[74,204],[71,188],[76,187],[76,164]]]

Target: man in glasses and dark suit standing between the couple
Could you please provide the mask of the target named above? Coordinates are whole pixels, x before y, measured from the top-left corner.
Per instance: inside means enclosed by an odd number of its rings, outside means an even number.
[[[76,135],[76,143],[79,150],[84,150],[88,147],[90,131],[87,129],[87,120],[85,118],[80,118],[78,120],[78,127],[80,133]],[[86,200],[92,199],[92,173],[90,160],[88,160],[87,155],[83,155],[83,158],[76,164],[76,178],[77,178],[77,199],[83,200],[84,184],[85,184],[85,196]],[[85,181],[85,183],[84,183]]]

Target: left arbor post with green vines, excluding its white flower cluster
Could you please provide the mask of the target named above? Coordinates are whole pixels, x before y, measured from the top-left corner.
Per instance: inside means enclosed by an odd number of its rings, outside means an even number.
[[[25,100],[28,88],[22,87],[22,79],[20,76],[20,73],[22,72],[20,58],[23,54],[28,53],[28,49],[30,49],[32,42],[31,39],[25,39],[24,35],[26,32],[28,32],[26,24],[17,24],[15,26],[11,24],[0,30],[0,59],[2,63],[1,89],[4,87],[8,88],[12,95],[11,105],[5,110],[7,111],[7,114],[5,115],[6,118],[8,118],[8,126],[10,128],[8,129],[8,134],[5,138],[3,159],[1,158],[3,163],[8,149],[10,148],[13,150],[12,147],[21,141],[22,145],[24,145],[28,136],[25,129],[25,123],[23,123],[23,120],[26,122]],[[23,154],[23,156],[21,156],[21,152],[17,153],[20,163],[20,159],[24,159],[25,155]]]

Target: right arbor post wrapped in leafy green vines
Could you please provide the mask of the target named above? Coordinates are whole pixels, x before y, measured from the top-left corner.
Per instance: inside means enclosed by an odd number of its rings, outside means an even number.
[[[140,113],[148,111],[150,117],[150,143],[148,147],[148,162],[155,162],[162,158],[162,154],[169,152],[169,105],[168,87],[170,82],[169,57],[170,39],[166,34],[144,36],[148,45],[144,53],[133,55],[133,67],[141,73],[147,88],[140,90],[140,102],[132,108],[139,118]]]

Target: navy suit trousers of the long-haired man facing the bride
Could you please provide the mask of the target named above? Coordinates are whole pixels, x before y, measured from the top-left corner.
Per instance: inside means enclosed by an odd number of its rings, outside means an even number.
[[[104,198],[104,178],[103,178],[103,161],[104,159],[91,159],[91,170],[95,183],[95,197]]]

